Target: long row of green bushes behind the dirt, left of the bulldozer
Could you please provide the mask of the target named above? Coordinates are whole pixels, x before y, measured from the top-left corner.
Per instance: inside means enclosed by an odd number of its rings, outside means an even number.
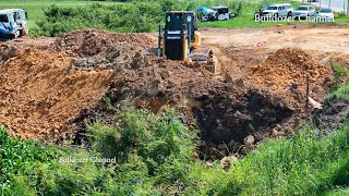
[[[159,3],[112,4],[98,3],[64,8],[51,5],[45,17],[37,21],[34,36],[56,37],[73,29],[98,28],[122,33],[152,32],[161,22]]]

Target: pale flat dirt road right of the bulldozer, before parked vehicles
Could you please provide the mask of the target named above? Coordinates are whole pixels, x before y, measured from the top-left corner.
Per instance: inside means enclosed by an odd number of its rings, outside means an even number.
[[[267,29],[207,29],[205,42],[231,49],[270,52],[280,48],[300,48],[316,57],[325,52],[349,54],[348,27],[280,26]]]

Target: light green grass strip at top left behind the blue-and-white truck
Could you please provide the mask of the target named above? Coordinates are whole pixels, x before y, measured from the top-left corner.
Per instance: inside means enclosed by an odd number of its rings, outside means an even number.
[[[121,2],[110,1],[79,1],[79,0],[1,0],[0,9],[20,8],[28,13],[29,29],[36,26],[38,20],[44,19],[44,11],[52,4],[62,8],[84,7],[87,3],[98,2],[101,4],[120,4]]]

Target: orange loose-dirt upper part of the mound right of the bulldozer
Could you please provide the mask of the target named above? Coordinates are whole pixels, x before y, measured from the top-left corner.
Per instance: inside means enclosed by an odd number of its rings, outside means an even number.
[[[320,65],[303,50],[284,48],[252,69],[249,78],[273,90],[284,91],[292,84],[305,84],[308,76],[311,82],[317,82],[329,73],[329,68]]]

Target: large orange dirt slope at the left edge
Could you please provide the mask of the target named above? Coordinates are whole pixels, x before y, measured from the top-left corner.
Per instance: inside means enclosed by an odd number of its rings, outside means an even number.
[[[95,106],[109,71],[74,71],[70,58],[26,49],[0,66],[0,122],[13,136],[58,142],[74,137],[72,121]]]

